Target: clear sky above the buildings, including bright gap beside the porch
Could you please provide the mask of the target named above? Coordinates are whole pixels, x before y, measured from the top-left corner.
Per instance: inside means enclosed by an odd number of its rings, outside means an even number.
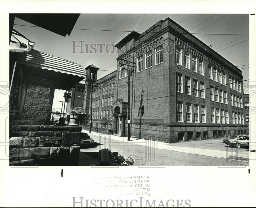
[[[243,80],[249,79],[249,14],[81,14],[70,36],[60,36],[15,18],[14,29],[35,42],[35,49],[80,64],[84,68],[95,65],[100,68],[98,79],[116,70],[118,56],[116,43],[132,30],[144,32],[159,20],[167,17],[190,33],[221,33],[232,35],[194,34],[216,52],[242,70]],[[26,26],[18,26],[26,25]],[[235,33],[235,35],[233,35]],[[237,34],[239,33],[239,34]],[[72,42],[73,41],[73,42]],[[82,43],[82,52],[80,46]],[[241,42],[241,43],[240,43]],[[238,44],[237,44],[238,43]],[[91,44],[105,44],[107,49]],[[236,44],[236,45],[234,45]],[[233,45],[233,46],[232,46]],[[87,47],[88,46],[88,47]],[[230,46],[230,47],[229,47]],[[223,49],[223,50],[222,50]],[[114,50],[114,51],[113,51]],[[87,53],[92,52],[92,53]],[[247,84],[247,83],[246,83]],[[62,90],[55,90],[53,109],[61,110]]]

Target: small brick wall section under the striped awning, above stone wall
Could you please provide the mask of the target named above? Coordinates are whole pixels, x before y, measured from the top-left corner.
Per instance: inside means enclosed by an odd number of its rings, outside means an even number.
[[[37,125],[50,124],[54,91],[54,89],[38,86],[27,89],[22,125],[27,125],[31,121]]]

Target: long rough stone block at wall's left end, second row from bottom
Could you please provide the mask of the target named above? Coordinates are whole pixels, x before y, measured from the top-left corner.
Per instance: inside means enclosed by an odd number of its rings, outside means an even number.
[[[10,160],[29,160],[50,157],[50,147],[9,149]]]

